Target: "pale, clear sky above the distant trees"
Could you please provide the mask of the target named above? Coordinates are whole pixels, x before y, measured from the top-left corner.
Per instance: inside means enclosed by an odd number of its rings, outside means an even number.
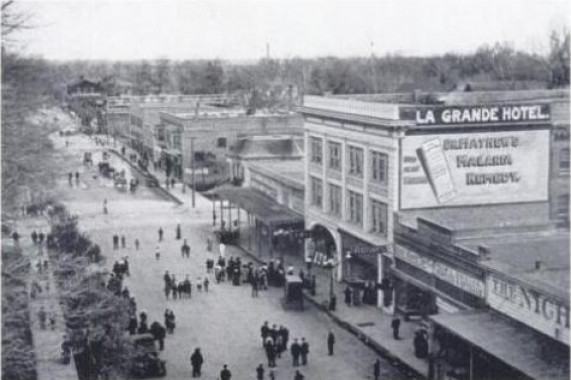
[[[495,42],[545,54],[569,1],[25,1],[24,51],[47,59],[250,60],[469,53]]]

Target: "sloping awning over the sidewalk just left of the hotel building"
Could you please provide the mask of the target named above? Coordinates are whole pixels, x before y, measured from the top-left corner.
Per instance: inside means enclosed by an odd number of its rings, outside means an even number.
[[[272,227],[299,225],[303,228],[304,218],[297,212],[280,205],[266,194],[252,188],[220,187],[209,193],[217,199],[228,200],[240,206],[258,218],[262,223]]]

